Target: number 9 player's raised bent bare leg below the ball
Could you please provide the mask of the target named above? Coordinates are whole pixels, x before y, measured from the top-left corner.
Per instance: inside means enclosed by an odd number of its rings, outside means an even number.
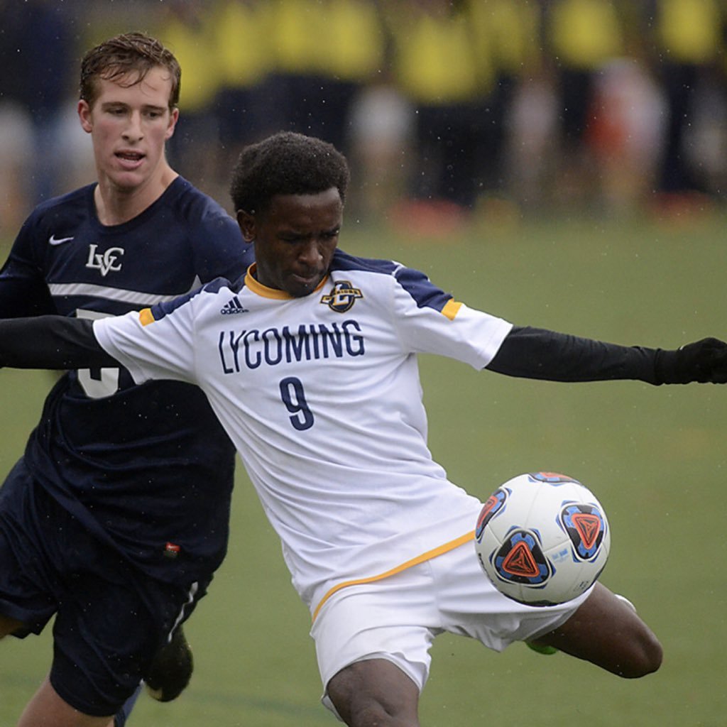
[[[651,629],[630,603],[600,583],[565,623],[534,643],[555,646],[624,678],[645,676],[662,663],[662,646]]]

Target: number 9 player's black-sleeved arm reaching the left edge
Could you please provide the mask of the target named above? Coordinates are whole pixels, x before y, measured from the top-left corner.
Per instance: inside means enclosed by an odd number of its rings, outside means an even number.
[[[0,320],[0,366],[91,369],[119,366],[98,344],[93,322],[65,316]]]

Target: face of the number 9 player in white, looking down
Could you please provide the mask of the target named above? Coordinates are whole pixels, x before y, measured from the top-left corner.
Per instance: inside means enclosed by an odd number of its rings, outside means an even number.
[[[257,281],[302,297],[328,274],[343,203],[336,188],[319,194],[278,195],[264,214],[238,212],[237,219],[245,239],[254,241]]]

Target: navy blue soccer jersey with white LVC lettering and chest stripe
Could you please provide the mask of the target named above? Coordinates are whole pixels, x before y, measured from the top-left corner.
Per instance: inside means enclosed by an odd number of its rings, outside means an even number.
[[[119,316],[235,280],[252,262],[236,222],[182,177],[122,225],[100,224],[94,189],[25,221],[0,271],[1,318]],[[151,576],[194,580],[222,561],[235,455],[198,388],[69,371],[24,457],[52,497]]]

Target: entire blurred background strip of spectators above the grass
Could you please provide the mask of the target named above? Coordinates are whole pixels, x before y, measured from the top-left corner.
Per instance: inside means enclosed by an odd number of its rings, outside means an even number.
[[[134,29],[182,61],[169,157],[222,204],[241,146],[281,129],[349,156],[350,214],[417,234],[503,211],[671,215],[725,201],[723,0],[0,0],[0,10],[0,230],[91,177],[80,134],[77,146],[60,131],[75,124],[63,69]]]

